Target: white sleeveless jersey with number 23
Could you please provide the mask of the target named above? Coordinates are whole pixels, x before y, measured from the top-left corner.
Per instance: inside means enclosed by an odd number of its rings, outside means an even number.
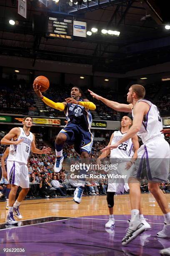
[[[121,131],[114,131],[111,145],[120,141],[125,134],[126,133],[121,133]],[[110,158],[132,158],[133,154],[133,143],[131,138],[121,143],[117,148],[110,150]]]

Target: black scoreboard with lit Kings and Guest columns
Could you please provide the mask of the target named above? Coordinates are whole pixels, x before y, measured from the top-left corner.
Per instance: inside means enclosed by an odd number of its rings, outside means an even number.
[[[68,18],[47,17],[47,37],[72,39],[73,20]]]

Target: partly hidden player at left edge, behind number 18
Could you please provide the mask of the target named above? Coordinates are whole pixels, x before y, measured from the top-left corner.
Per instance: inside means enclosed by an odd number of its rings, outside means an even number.
[[[8,210],[8,204],[9,204],[8,197],[9,197],[9,193],[10,193],[10,189],[11,189],[11,184],[9,184],[9,182],[7,181],[7,171],[6,171],[6,167],[5,167],[5,161],[7,160],[9,152],[10,152],[10,147],[5,148],[3,156],[1,157],[2,180],[4,180],[4,184],[6,184],[6,186],[7,186],[7,189],[5,192],[5,197],[7,200],[6,210]]]

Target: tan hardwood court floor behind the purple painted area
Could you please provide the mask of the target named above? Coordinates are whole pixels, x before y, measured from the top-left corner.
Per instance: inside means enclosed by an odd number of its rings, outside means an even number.
[[[166,194],[170,207],[170,194]],[[142,194],[142,207],[144,215],[162,215],[157,202],[151,194]],[[5,222],[7,210],[6,202],[0,202],[0,223]],[[20,205],[22,220],[42,218],[47,216],[81,217],[91,215],[107,215],[106,196],[82,197],[82,202],[76,204],[72,197],[25,200]],[[130,214],[129,195],[115,196],[115,215]]]

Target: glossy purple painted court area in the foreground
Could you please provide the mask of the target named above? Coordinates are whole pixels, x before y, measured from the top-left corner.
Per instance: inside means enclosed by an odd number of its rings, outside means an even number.
[[[157,238],[163,216],[145,216],[152,229],[127,246],[121,245],[130,215],[115,215],[115,228],[105,229],[107,215],[80,218],[47,217],[20,222],[20,227],[5,224],[0,230],[0,255],[146,255],[157,256],[170,240]],[[4,248],[24,248],[25,252],[4,253]]]

